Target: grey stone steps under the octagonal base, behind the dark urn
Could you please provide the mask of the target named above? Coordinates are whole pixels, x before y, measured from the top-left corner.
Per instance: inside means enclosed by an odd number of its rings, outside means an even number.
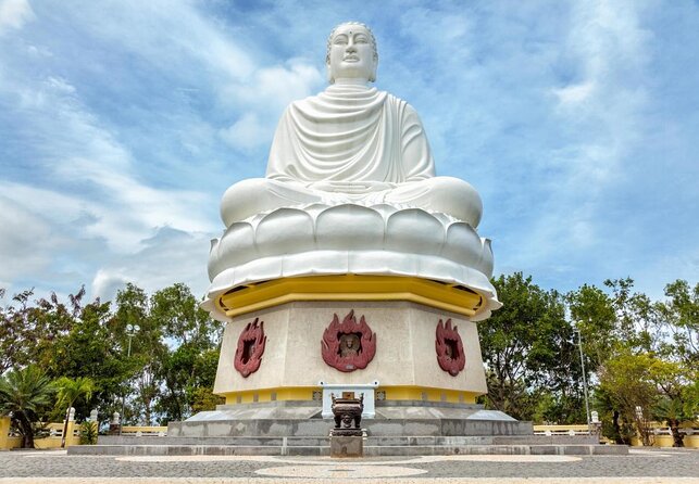
[[[329,456],[333,424],[316,404],[220,406],[171,422],[166,436],[104,435],[98,445],[68,447],[68,455]],[[600,445],[596,436],[534,435],[531,422],[476,405],[379,405],[362,428],[366,457],[628,454],[625,446]]]

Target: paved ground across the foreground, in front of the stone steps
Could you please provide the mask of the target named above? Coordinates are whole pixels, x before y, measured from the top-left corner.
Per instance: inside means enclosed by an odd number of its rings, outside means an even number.
[[[0,484],[699,484],[699,450],[629,456],[428,456],[361,460],[263,456],[92,457],[0,453]]]

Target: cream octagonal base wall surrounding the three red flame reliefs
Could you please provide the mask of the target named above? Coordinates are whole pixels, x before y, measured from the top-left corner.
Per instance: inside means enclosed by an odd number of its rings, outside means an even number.
[[[322,357],[323,332],[351,310],[375,333],[376,353],[366,368],[351,372]],[[244,378],[234,368],[238,337],[258,318],[266,344],[257,371]],[[435,349],[439,320],[451,319],[463,342],[465,367],[455,377],[442,370]],[[365,384],[378,381],[377,399],[474,403],[487,391],[476,324],[466,316],[404,301],[294,302],[251,311],[227,323],[214,393],[226,405],[321,397],[319,382]]]

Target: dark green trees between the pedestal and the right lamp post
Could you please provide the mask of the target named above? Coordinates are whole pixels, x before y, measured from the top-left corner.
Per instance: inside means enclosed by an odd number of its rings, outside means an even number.
[[[478,323],[486,404],[517,419],[579,419],[579,358],[563,298],[521,272],[494,280],[503,307]]]

